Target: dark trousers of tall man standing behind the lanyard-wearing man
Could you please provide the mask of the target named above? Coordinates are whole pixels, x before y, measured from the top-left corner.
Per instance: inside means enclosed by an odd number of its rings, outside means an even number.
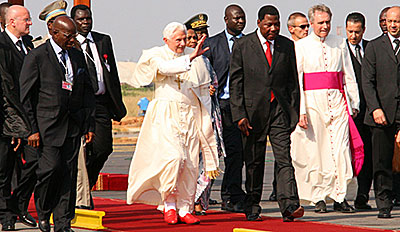
[[[89,177],[89,185],[92,188],[97,181],[112,148],[112,124],[110,114],[111,99],[108,95],[96,96],[96,127],[93,144],[88,145],[86,156],[86,168]]]

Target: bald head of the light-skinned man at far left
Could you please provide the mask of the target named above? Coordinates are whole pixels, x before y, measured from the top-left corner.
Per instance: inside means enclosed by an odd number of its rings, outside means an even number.
[[[17,38],[29,34],[32,25],[28,9],[20,5],[10,6],[6,12],[6,28]]]

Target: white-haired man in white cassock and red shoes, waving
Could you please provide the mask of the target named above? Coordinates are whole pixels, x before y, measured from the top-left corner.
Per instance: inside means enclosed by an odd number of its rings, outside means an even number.
[[[166,45],[144,50],[136,66],[135,87],[154,82],[129,170],[127,203],[163,205],[164,220],[198,224],[191,215],[199,153],[211,178],[218,175],[217,144],[211,124],[210,73],[201,56],[204,38],[188,53],[186,29],[170,23]],[[177,212],[178,211],[178,215]]]

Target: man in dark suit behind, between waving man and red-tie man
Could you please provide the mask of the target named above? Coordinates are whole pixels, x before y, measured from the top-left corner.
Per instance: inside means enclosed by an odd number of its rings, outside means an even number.
[[[246,16],[238,5],[225,9],[226,29],[205,41],[204,47],[210,49],[204,55],[210,60],[218,78],[216,92],[221,108],[223,139],[226,149],[225,173],[221,185],[221,209],[242,212],[245,192],[242,189],[243,150],[239,128],[232,121],[229,105],[229,62],[233,43],[243,36]]]

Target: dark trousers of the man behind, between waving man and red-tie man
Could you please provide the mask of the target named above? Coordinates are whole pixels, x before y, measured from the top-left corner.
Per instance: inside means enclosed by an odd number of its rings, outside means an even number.
[[[221,184],[221,199],[233,204],[242,201],[245,192],[242,189],[243,150],[242,137],[236,123],[232,121],[229,100],[220,99],[222,117],[222,136],[225,144],[225,170]]]

